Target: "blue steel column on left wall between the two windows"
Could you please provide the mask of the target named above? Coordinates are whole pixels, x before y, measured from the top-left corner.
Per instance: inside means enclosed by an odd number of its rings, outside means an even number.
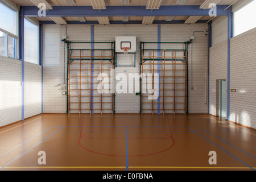
[[[22,61],[22,121],[24,120],[24,15],[23,7],[19,10],[19,59]]]

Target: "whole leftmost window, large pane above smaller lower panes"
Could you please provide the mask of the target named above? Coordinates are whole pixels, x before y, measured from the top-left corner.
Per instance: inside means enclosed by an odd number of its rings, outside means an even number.
[[[0,56],[16,57],[18,13],[0,2]]]

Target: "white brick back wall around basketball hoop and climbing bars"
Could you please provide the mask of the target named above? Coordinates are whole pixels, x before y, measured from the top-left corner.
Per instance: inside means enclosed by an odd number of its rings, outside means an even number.
[[[161,41],[163,42],[184,42],[189,40],[189,36],[193,35],[193,31],[205,31],[208,26],[205,24],[196,25],[162,25],[161,26]],[[67,32],[68,40],[90,42],[90,26],[86,25],[68,25],[60,26],[60,38]],[[178,36],[177,36],[178,35]],[[126,76],[129,73],[140,73],[140,48],[139,43],[157,42],[158,41],[158,26],[157,25],[95,25],[94,26],[94,42],[113,42],[115,36],[136,36],[137,37],[137,55],[136,68],[134,67],[117,67],[115,74],[123,73]],[[189,89],[189,113],[207,113],[205,98],[199,97],[200,94],[205,95],[205,52],[206,52],[206,36],[204,33],[196,33],[196,39],[193,43],[193,80],[196,90]],[[72,48],[80,48],[82,45],[72,44]],[[90,48],[90,44],[83,44],[84,48]],[[65,113],[67,111],[67,97],[62,95],[63,86],[60,83],[64,81],[64,65],[67,63],[67,52],[64,49],[63,43],[60,42],[60,60],[59,66],[44,67],[44,113]],[[102,47],[100,44],[94,44],[94,48],[109,48],[107,45]],[[157,48],[157,44],[151,46]],[[66,48],[65,48],[66,50]],[[191,46],[189,46],[189,81],[191,81]],[[72,55],[77,54],[73,52]],[[100,55],[94,51],[95,55]],[[104,52],[104,55],[107,55]],[[118,65],[133,65],[134,55],[118,55]],[[64,63],[65,62],[65,63]],[[67,67],[65,67],[67,69]],[[107,72],[106,72],[107,73]],[[95,75],[96,73],[94,73]],[[109,73],[108,73],[109,74]],[[65,75],[67,78],[67,74]],[[97,79],[97,77],[94,77]],[[117,82],[116,82],[117,83]],[[67,82],[65,82],[67,85]],[[189,88],[191,85],[189,85]],[[94,89],[97,88],[94,84]],[[76,89],[74,87],[74,89]],[[76,91],[72,91],[76,92]],[[117,113],[139,113],[140,98],[133,94],[117,94],[115,102],[115,111]],[[86,100],[85,100],[86,101]],[[75,100],[74,100],[75,102]],[[74,105],[73,108],[76,106]],[[88,106],[89,107],[89,106]],[[97,107],[97,104],[94,105]],[[83,111],[88,113],[88,110]],[[99,111],[97,111],[98,113]],[[78,113],[78,110],[72,111]]]

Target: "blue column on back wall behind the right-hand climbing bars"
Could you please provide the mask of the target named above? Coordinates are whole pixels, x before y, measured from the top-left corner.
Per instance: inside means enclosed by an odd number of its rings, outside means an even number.
[[[161,44],[160,44],[160,42],[161,42],[161,25],[159,24],[158,25],[158,49],[161,49]],[[161,56],[161,51],[160,50],[158,50],[158,59],[160,59],[160,57],[159,56]],[[159,78],[158,78],[158,82],[159,82],[159,86],[158,86],[158,114],[160,114],[161,113],[161,104],[160,104],[160,102],[161,102],[161,97],[160,97],[160,95],[161,95],[161,91],[160,91],[160,88],[161,88],[161,84],[160,84],[160,82],[161,82],[161,71],[160,71],[160,69],[161,69],[161,61],[160,60],[158,60],[158,76],[159,76]],[[153,67],[154,67],[154,65],[153,65]],[[164,79],[164,78],[163,78]]]

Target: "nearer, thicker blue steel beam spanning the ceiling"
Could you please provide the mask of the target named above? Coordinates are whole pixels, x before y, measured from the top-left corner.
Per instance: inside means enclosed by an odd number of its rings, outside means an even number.
[[[229,15],[228,5],[217,5],[217,16]],[[146,6],[106,6],[94,10],[92,6],[52,6],[46,16],[208,16],[209,11],[200,6],[160,6],[159,10],[147,10]],[[38,16],[38,7],[23,6],[25,16]]]

